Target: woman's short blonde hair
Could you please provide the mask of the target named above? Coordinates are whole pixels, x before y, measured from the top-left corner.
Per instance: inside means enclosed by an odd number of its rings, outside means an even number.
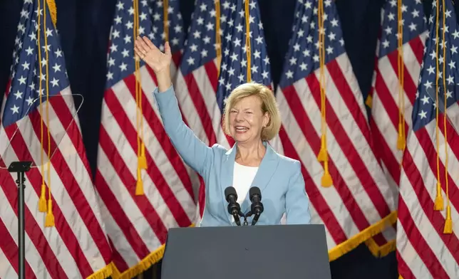
[[[227,100],[225,100],[225,110],[223,111],[223,131],[226,135],[229,133],[229,112],[234,104],[249,96],[257,96],[262,101],[262,112],[268,113],[269,122],[262,130],[262,140],[269,141],[273,139],[281,128],[281,115],[277,106],[276,98],[272,90],[267,86],[259,83],[243,83],[232,90]]]

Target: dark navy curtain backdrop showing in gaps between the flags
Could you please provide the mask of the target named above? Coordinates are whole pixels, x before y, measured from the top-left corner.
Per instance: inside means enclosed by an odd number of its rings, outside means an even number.
[[[296,0],[259,0],[272,76],[277,84],[288,49]],[[374,53],[384,0],[336,0],[346,50],[364,95],[371,86]],[[56,0],[57,25],[66,57],[68,78],[73,93],[84,96],[79,112],[83,140],[91,168],[96,168],[100,106],[105,86],[108,33],[116,0]],[[0,1],[0,100],[9,78],[11,55],[22,1]],[[427,16],[431,0],[424,1]],[[181,1],[185,29],[190,24],[193,0]],[[456,14],[458,7],[456,6]],[[160,272],[160,264],[144,278]],[[331,262],[333,278],[398,278],[395,253],[374,258],[363,244]]]

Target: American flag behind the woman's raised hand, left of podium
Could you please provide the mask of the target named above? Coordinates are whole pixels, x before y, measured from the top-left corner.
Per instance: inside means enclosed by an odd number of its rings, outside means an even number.
[[[113,248],[114,274],[121,278],[132,278],[160,260],[167,229],[192,225],[196,211],[192,172],[163,129],[152,95],[156,78],[143,62],[136,89],[136,36],[148,36],[161,50],[170,41],[174,74],[185,36],[179,1],[119,0],[115,6],[96,189]],[[142,143],[146,169],[138,159]]]

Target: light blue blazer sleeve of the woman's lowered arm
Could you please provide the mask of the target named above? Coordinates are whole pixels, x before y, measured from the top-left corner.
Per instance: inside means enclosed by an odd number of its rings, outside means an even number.
[[[306,194],[299,161],[294,161],[294,169],[285,197],[287,224],[309,224],[311,222],[309,197]]]

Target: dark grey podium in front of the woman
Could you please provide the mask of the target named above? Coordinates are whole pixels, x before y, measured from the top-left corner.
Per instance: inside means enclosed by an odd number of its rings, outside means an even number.
[[[324,225],[170,228],[162,279],[330,279]]]

